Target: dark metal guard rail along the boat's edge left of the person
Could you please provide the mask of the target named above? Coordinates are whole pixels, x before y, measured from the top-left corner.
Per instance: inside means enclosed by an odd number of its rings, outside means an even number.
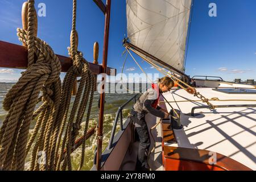
[[[114,121],[114,124],[113,124],[113,128],[112,128],[112,133],[111,133],[111,137],[110,137],[110,141],[109,141],[109,147],[108,149],[110,150],[110,148],[113,147],[113,139],[114,139],[114,136],[115,136],[115,130],[117,128],[117,122],[118,122],[118,119],[120,117],[120,129],[121,131],[124,130],[123,129],[123,113],[122,113],[122,110],[123,108],[128,105],[131,101],[134,101],[134,103],[137,101],[136,100],[136,97],[138,96],[139,94],[135,94],[133,97],[131,97],[128,101],[125,102],[125,104],[123,104],[122,106],[120,106],[117,110],[117,115],[115,115],[115,121]]]

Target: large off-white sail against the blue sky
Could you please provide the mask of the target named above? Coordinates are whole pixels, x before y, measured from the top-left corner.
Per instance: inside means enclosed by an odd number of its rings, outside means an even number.
[[[183,72],[191,1],[126,0],[130,43]]]

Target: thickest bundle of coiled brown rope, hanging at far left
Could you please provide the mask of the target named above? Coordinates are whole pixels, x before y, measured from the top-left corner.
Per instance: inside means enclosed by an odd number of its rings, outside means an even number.
[[[36,130],[46,121],[51,130],[59,110],[61,65],[51,47],[34,36],[36,12],[33,0],[28,1],[27,16],[28,29],[18,28],[17,35],[28,48],[28,68],[3,101],[3,108],[9,111],[0,130],[0,168],[3,170],[24,169],[32,119],[40,113]],[[42,97],[39,97],[40,92]],[[40,101],[43,104],[34,112]]]

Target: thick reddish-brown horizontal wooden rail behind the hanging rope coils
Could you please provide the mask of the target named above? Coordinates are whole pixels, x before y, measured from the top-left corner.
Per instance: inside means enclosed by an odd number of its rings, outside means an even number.
[[[67,72],[72,66],[72,59],[61,55],[57,55],[57,57],[60,59],[61,72]],[[0,67],[26,69],[27,48],[0,40]],[[103,73],[102,65],[89,63],[89,67],[95,75]],[[115,76],[116,69],[108,67],[106,74]]]

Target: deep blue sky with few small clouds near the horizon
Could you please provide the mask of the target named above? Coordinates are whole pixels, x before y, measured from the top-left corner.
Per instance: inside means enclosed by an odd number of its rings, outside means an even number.
[[[0,40],[20,44],[16,28],[22,27],[21,7],[24,0],[0,1]],[[38,37],[46,41],[55,53],[68,56],[72,24],[72,1],[36,1],[46,4],[46,17],[38,17]],[[105,17],[92,0],[78,0],[77,31],[79,50],[88,61],[93,60],[93,44],[100,44],[102,63]],[[217,17],[208,15],[209,3],[216,3]],[[121,72],[125,56],[122,39],[126,33],[125,0],[112,0],[108,66]],[[255,0],[195,0],[185,73],[190,76],[220,76],[256,80],[256,1]],[[138,59],[138,57],[137,57]],[[147,73],[158,73],[138,59]],[[19,69],[0,68],[0,81],[16,81]],[[141,70],[129,57],[124,73]],[[61,75],[63,77],[63,74]]]

